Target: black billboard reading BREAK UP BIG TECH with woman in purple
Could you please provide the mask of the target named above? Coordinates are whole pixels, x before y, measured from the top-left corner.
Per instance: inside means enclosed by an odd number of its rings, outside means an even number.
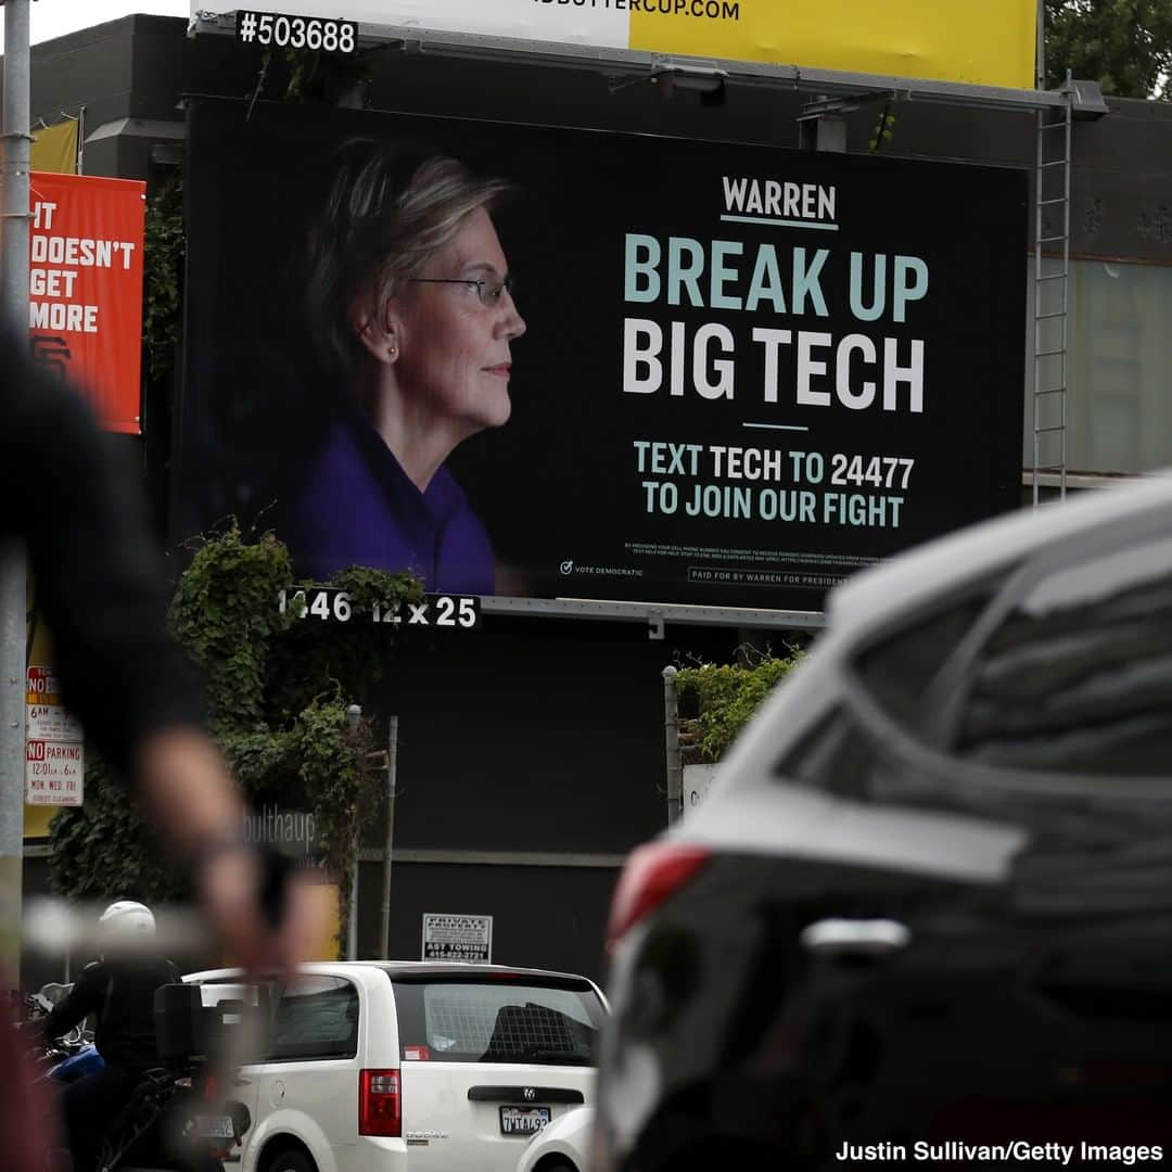
[[[189,111],[177,541],[817,608],[1020,502],[1023,171]]]

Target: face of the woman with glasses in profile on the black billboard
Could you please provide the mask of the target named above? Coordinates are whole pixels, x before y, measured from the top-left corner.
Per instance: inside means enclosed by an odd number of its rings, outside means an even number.
[[[497,231],[482,207],[464,218],[456,236],[397,299],[395,375],[401,391],[421,409],[463,424],[469,434],[500,427],[512,409],[510,343],[525,333],[525,322],[507,291],[496,299],[490,295],[507,272]],[[478,280],[484,281],[488,304]]]

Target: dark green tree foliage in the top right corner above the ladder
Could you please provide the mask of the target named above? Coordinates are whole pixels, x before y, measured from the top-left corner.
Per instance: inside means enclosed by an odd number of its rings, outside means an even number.
[[[1068,69],[1104,94],[1168,100],[1172,0],[1045,0],[1047,86]]]

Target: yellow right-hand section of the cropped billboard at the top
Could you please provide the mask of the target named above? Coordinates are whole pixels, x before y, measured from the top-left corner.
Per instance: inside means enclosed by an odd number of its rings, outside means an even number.
[[[1034,88],[1037,0],[642,0],[631,48]]]

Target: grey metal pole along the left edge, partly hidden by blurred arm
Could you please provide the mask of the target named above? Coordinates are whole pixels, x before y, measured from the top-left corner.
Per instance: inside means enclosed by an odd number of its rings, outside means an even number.
[[[4,110],[0,124],[0,314],[16,345],[28,334],[28,5],[4,4]],[[0,548],[0,965],[20,975],[25,863],[25,612],[22,545]]]

